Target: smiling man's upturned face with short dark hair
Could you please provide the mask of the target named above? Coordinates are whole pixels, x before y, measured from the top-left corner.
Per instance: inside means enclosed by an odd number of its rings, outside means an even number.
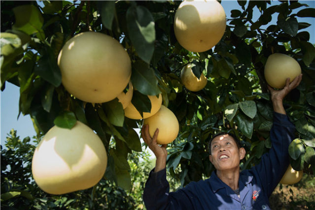
[[[245,156],[245,149],[238,148],[233,137],[223,134],[211,142],[209,159],[219,171],[239,168],[240,160]]]

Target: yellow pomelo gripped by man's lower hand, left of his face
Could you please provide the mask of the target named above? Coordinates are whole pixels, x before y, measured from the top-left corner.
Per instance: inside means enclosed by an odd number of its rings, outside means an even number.
[[[149,125],[149,133],[154,135],[158,128],[158,144],[164,145],[174,141],[179,132],[179,123],[174,113],[164,105],[158,112],[143,121],[143,124]]]

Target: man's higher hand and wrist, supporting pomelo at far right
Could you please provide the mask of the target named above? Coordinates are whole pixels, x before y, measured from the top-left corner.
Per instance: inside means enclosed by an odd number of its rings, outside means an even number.
[[[270,87],[268,85],[268,89],[271,93],[271,100],[272,100],[272,104],[274,107],[274,111],[284,114],[285,115],[285,110],[283,107],[283,100],[284,97],[293,89],[295,89],[296,87],[298,87],[298,85],[300,84],[300,82],[302,81],[302,74],[300,74],[299,76],[295,77],[294,80],[290,83],[290,78],[286,79],[286,84],[284,86],[283,89],[281,90],[275,90],[272,87]]]

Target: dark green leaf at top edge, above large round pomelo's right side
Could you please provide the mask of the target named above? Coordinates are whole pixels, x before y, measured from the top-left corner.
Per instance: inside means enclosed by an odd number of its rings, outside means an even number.
[[[115,16],[115,1],[112,0],[105,0],[105,1],[98,1],[99,4],[99,13],[102,18],[102,24],[108,30],[112,30],[112,24]]]

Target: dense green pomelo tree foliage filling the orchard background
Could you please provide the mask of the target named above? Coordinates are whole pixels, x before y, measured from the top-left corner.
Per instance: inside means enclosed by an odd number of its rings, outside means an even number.
[[[36,131],[31,141],[29,137],[20,140],[12,130],[6,148],[1,149],[1,208],[144,208],[141,194],[154,160],[135,131],[143,120],[125,118],[122,108],[110,109],[118,103],[116,99],[94,107],[88,103],[84,108],[83,101],[71,97],[61,85],[59,51],[75,34],[89,30],[114,37],[126,49],[132,62],[131,82],[137,89],[132,98],[136,108],[150,110],[147,95],[161,93],[163,105],[179,120],[180,133],[168,145],[172,190],[210,176],[214,168],[207,141],[219,130],[231,130],[242,140],[247,150],[242,170],[259,162],[271,147],[273,116],[264,64],[272,53],[297,60],[303,80],[284,100],[296,126],[290,163],[304,171],[303,180],[313,184],[308,191],[314,192],[315,47],[304,30],[311,24],[298,18],[314,18],[315,8],[307,1],[237,1],[241,9],[225,11],[231,18],[221,41],[209,51],[193,53],[182,48],[174,35],[173,20],[180,2],[1,1],[1,90],[5,91],[7,83],[19,87],[17,115],[29,115]],[[257,11],[258,18],[253,18]],[[273,18],[275,24],[270,23]],[[208,78],[207,86],[198,92],[187,90],[180,80],[181,69],[189,62],[195,64],[197,77],[203,72]],[[123,126],[110,117],[113,113]],[[65,124],[80,120],[101,138],[108,166],[95,187],[53,196],[32,180],[33,150],[56,118]],[[286,199],[296,205],[297,194],[291,191]],[[314,208],[312,197],[304,201],[303,207]]]

